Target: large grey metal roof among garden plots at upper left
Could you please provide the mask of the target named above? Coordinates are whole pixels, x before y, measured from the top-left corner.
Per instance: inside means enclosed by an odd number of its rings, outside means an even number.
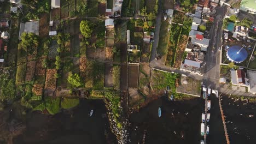
[[[19,39],[22,33],[34,33],[39,35],[39,20],[28,21],[26,23],[20,23]]]

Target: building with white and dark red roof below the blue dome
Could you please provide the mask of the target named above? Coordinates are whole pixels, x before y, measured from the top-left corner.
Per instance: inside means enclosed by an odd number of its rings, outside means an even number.
[[[245,86],[249,85],[246,73],[242,69],[230,70],[232,85]]]

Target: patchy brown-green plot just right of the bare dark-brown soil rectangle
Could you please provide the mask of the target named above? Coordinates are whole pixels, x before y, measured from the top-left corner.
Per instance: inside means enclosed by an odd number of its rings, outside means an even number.
[[[149,94],[149,64],[139,65],[139,89],[146,95]]]

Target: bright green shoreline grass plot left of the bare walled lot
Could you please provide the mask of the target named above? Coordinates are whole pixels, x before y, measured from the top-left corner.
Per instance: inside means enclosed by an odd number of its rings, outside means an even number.
[[[179,77],[178,74],[165,73],[158,70],[153,70],[152,74],[152,88],[161,90],[166,89],[167,86],[170,87],[171,92],[176,92],[175,81]]]

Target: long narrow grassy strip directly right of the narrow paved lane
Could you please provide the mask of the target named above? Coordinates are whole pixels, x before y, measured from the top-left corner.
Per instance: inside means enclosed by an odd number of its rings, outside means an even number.
[[[167,20],[162,21],[161,28],[160,28],[160,35],[159,35],[159,44],[158,44],[158,53],[161,56],[164,56],[167,53],[168,39],[170,37],[170,33],[168,32],[168,27],[170,27],[169,22]]]

